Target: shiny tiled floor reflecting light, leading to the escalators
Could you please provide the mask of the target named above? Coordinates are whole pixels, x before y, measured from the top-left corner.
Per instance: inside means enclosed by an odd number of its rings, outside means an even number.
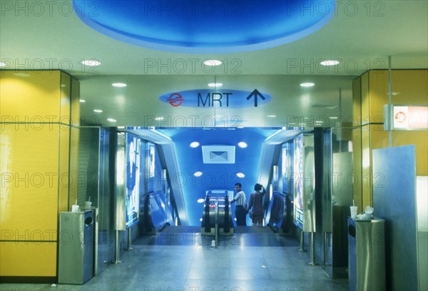
[[[295,238],[270,228],[239,227],[231,237],[201,236],[200,228],[169,227],[138,238],[119,264],[85,285],[3,284],[6,290],[317,291],[348,289],[320,266],[310,266]]]

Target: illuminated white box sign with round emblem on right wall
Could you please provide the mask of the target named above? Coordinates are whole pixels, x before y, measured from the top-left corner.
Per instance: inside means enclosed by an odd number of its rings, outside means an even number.
[[[428,105],[385,105],[384,130],[427,131]]]

